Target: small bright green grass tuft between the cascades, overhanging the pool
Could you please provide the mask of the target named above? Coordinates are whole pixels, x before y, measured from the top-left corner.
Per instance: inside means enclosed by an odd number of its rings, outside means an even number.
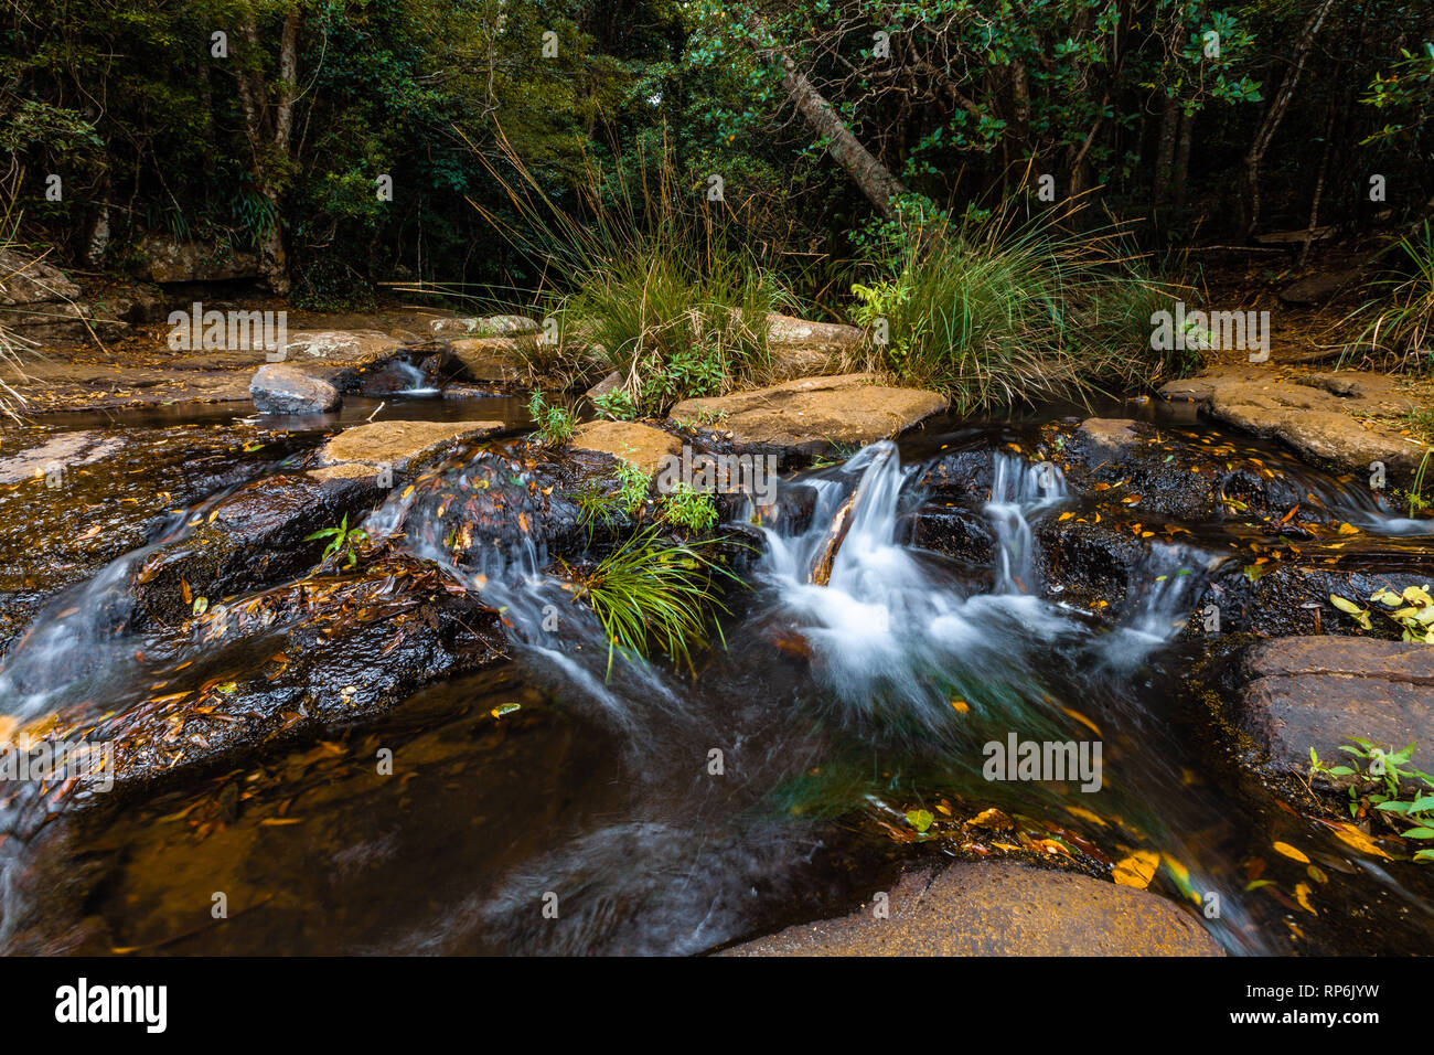
[[[670,545],[654,525],[582,577],[578,597],[592,606],[608,639],[608,676],[619,650],[642,657],[660,652],[695,673],[691,652],[707,640],[708,626],[726,647],[718,578],[740,580],[708,558],[711,544]]]

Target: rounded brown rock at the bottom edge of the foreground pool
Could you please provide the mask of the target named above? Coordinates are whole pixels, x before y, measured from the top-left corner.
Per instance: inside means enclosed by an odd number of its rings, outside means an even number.
[[[787,927],[723,956],[1220,956],[1193,916],[1146,890],[1021,864],[905,876],[891,917]]]

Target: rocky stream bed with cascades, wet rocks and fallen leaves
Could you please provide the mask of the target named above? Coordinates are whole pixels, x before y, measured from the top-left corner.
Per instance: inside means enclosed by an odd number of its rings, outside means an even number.
[[[485,340],[3,429],[0,739],[113,766],[0,785],[0,949],[1430,947],[1431,866],[1306,771],[1434,751],[1434,652],[1331,601],[1434,581],[1434,520],[1179,400],[796,378],[545,445]],[[638,525],[582,495],[684,446],[780,485],[720,501],[726,647],[609,670],[574,568]],[[987,779],[1008,735],[1100,789]]]

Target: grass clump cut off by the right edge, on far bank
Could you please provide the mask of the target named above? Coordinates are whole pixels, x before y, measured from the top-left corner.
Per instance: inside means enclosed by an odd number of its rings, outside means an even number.
[[[1427,346],[1434,330],[1434,228],[1425,220],[1418,231],[1400,238],[1392,248],[1402,253],[1404,266],[1371,283],[1380,296],[1344,319],[1344,323],[1361,317],[1368,322],[1341,355],[1341,366],[1358,349],[1394,357],[1398,370],[1427,372],[1434,363],[1434,349]]]

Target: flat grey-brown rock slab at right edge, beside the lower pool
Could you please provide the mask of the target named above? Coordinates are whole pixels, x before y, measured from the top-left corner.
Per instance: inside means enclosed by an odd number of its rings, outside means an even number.
[[[1434,752],[1434,649],[1374,637],[1281,637],[1245,657],[1236,702],[1240,729],[1260,758],[1258,769],[1301,772],[1309,749],[1344,761],[1349,736],[1395,751],[1417,742]],[[1427,766],[1420,766],[1427,768]]]

